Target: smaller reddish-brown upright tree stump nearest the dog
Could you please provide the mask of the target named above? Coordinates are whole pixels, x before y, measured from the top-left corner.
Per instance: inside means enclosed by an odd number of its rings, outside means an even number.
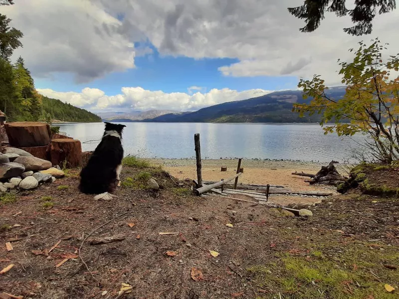
[[[51,141],[51,163],[68,168],[79,167],[82,163],[82,145],[79,140],[53,139]]]

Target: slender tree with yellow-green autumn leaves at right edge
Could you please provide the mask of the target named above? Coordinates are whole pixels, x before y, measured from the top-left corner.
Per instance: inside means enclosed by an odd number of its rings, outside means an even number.
[[[328,89],[319,75],[313,79],[301,79],[298,87],[303,89],[304,98],[312,97],[310,104],[294,104],[293,111],[322,114],[321,126],[325,134],[336,132],[339,136],[353,136],[362,133],[368,136],[366,148],[382,162],[399,159],[399,76],[391,78],[391,72],[399,70],[399,54],[383,61],[382,51],[386,49],[379,39],[367,46],[359,42],[359,49],[350,49],[355,58],[342,62],[340,74],[346,94],[342,99],[326,95]]]

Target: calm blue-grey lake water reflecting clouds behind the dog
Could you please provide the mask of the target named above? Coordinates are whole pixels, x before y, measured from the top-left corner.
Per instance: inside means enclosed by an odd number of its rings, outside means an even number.
[[[125,154],[141,157],[195,157],[194,134],[200,133],[202,158],[244,157],[316,161],[345,161],[363,137],[324,135],[314,124],[124,123]],[[60,131],[94,150],[103,123],[60,124]]]

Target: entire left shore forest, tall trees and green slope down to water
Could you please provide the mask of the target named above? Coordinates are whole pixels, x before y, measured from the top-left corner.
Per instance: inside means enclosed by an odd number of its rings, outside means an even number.
[[[5,2],[0,2],[3,5]],[[12,4],[9,2],[8,4]],[[0,110],[7,121],[101,122],[101,118],[86,110],[40,95],[22,57],[15,63],[10,58],[21,47],[23,33],[10,27],[11,19],[0,13]]]

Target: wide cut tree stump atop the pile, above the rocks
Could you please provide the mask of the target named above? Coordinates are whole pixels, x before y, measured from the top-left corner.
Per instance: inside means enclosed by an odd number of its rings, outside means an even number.
[[[50,125],[39,122],[4,124],[11,147],[41,147],[50,143]]]

